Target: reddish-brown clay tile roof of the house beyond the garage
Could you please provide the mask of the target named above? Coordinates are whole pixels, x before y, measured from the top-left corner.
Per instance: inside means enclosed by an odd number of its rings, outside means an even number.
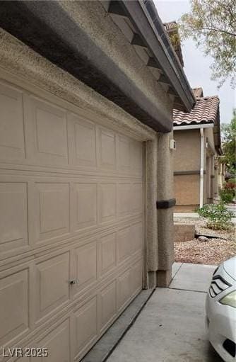
[[[196,103],[190,113],[174,109],[174,126],[216,123],[219,103],[218,96],[201,97],[196,98]]]

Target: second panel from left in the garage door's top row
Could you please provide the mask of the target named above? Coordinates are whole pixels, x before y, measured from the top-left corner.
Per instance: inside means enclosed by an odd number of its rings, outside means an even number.
[[[66,112],[25,96],[25,120],[30,159],[40,164],[68,164]]]

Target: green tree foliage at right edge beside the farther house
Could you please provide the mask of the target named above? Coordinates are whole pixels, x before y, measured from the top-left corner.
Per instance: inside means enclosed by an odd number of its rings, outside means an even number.
[[[236,108],[232,112],[231,122],[229,124],[223,123],[221,126],[221,133],[223,148],[221,162],[227,166],[230,173],[236,174]]]

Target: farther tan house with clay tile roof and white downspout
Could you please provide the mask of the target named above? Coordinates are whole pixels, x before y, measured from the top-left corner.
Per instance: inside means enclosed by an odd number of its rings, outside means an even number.
[[[197,207],[213,203],[222,183],[220,148],[220,113],[218,96],[204,97],[194,89],[196,104],[190,113],[174,110],[175,212],[194,212]]]

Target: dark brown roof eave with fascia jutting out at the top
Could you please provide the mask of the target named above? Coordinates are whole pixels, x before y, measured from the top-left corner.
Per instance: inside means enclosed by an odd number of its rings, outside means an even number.
[[[106,1],[109,13],[129,18],[136,28],[139,44],[151,50],[153,57],[147,65],[163,72],[159,81],[167,84],[170,94],[175,96],[174,108],[190,112],[195,97],[187,80],[182,64],[170,42],[152,0]],[[155,64],[155,65],[154,65]]]

